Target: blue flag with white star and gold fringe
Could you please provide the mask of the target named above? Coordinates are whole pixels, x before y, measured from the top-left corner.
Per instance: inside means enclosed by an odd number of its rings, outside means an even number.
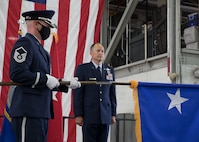
[[[199,85],[139,82],[133,90],[138,142],[199,142]]]

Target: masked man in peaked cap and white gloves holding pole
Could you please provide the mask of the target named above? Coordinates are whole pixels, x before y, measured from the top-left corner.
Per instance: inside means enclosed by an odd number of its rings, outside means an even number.
[[[41,44],[55,28],[52,10],[28,11],[22,14],[27,33],[11,52],[10,79],[22,85],[14,87],[10,116],[16,142],[46,142],[48,120],[53,118],[52,90],[67,92],[81,86],[76,78],[70,85],[60,85],[50,75],[50,56]],[[13,87],[12,87],[13,88]]]

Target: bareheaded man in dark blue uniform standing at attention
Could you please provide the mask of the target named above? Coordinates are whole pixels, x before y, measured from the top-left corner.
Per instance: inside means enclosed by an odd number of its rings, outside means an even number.
[[[112,67],[102,64],[104,47],[95,43],[90,49],[91,62],[77,67],[81,81],[114,81]],[[106,142],[109,126],[116,122],[115,85],[82,85],[74,91],[75,121],[82,126],[83,142]]]

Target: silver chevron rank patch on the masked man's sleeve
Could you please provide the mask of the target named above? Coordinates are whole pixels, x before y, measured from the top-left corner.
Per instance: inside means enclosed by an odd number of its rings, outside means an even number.
[[[21,46],[15,49],[14,59],[17,63],[22,63],[26,60],[27,51]]]

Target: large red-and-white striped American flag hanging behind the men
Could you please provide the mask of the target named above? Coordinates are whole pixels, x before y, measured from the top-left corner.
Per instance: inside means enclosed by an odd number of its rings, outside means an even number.
[[[19,19],[21,13],[29,10],[50,9],[55,11],[52,21],[58,26],[54,32],[58,35],[55,43],[53,36],[44,42],[51,56],[58,55],[57,77],[69,80],[76,66],[90,60],[90,45],[99,41],[104,0],[1,0],[0,1],[0,81],[9,82],[9,61],[11,49],[18,39],[18,31],[26,33],[26,25]],[[56,45],[56,54],[53,47]],[[9,86],[0,86],[0,115],[4,115]],[[54,93],[55,120],[50,121],[48,142],[80,142],[81,129],[72,117],[71,90],[66,93]],[[60,116],[61,115],[61,116]],[[57,121],[57,122],[55,122]],[[54,126],[56,124],[56,126]],[[2,119],[0,121],[0,132]],[[64,130],[64,131],[63,131]]]

